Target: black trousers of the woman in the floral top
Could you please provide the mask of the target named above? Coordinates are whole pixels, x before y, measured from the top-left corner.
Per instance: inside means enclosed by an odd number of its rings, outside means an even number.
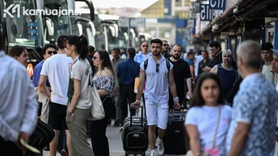
[[[101,99],[103,101],[102,105],[104,107],[105,117],[102,120],[91,121],[91,142],[95,156],[109,156],[106,127],[108,120],[115,114],[116,108],[111,97]]]

